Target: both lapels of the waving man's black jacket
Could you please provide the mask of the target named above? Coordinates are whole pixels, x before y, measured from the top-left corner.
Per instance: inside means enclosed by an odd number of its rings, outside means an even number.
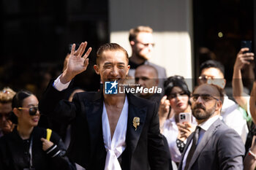
[[[146,112],[147,107],[141,107],[138,102],[138,98],[135,96],[127,94],[127,98],[129,101],[128,107],[128,121],[127,121],[127,152],[129,154],[129,161],[131,161],[131,157],[133,152],[138,144],[138,140],[140,139],[140,134],[143,131],[143,126],[146,121]],[[94,100],[86,103],[86,118],[88,120],[88,126],[90,133],[90,142],[91,142],[91,150],[95,150],[97,144],[99,144],[99,140],[103,141],[102,134],[102,109],[103,109],[103,97],[97,93],[94,97]],[[140,118],[140,125],[137,126],[137,130],[133,125],[134,117]],[[100,150],[99,159],[105,158],[106,152],[105,150]]]

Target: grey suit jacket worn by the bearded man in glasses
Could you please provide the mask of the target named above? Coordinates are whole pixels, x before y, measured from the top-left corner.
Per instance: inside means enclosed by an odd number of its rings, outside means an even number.
[[[184,154],[194,132],[187,139],[181,163],[182,168]],[[189,163],[189,169],[217,170],[217,169],[243,169],[244,142],[232,128],[228,128],[222,120],[217,119],[203,135]]]

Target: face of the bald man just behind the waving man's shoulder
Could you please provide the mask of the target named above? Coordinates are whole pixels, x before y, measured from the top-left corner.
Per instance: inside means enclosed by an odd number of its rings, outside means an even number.
[[[135,71],[135,83],[140,84],[143,88],[152,88],[158,85],[157,73],[153,69],[139,66]],[[141,93],[142,96],[150,93]]]

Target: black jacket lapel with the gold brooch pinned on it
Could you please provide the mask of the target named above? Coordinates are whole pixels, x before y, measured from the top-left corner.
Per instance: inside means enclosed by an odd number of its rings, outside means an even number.
[[[128,122],[127,122],[127,146],[129,146],[129,153],[132,156],[135,148],[137,147],[138,140],[140,138],[140,134],[143,130],[143,126],[146,120],[146,107],[138,106],[138,98],[135,98],[132,95],[127,95],[129,101],[129,109],[128,109]],[[133,126],[134,117],[140,118],[140,125],[137,126],[137,130]]]

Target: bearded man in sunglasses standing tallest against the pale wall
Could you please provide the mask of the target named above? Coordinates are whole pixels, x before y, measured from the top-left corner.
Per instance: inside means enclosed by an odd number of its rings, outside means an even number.
[[[129,58],[129,69],[128,76],[131,78],[135,77],[135,69],[143,64],[154,66],[158,72],[159,88],[163,89],[163,83],[166,79],[166,71],[162,66],[151,63],[148,60],[151,58],[154,39],[153,30],[149,26],[138,26],[131,28],[129,31],[129,44],[132,47],[132,56]]]

